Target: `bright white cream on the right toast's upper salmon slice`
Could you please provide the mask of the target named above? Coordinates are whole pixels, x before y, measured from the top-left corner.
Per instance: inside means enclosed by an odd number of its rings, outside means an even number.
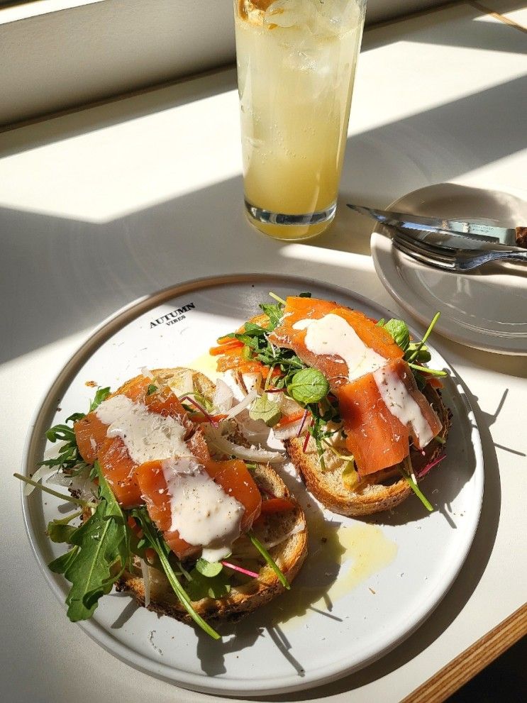
[[[317,355],[339,356],[348,366],[348,379],[353,381],[386,364],[387,360],[365,345],[351,325],[338,315],[328,314],[319,320],[295,322],[295,330],[307,330],[306,348]]]

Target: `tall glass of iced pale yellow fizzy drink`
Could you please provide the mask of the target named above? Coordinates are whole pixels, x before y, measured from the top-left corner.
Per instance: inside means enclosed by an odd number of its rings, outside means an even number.
[[[245,208],[286,240],[335,216],[366,0],[234,0]]]

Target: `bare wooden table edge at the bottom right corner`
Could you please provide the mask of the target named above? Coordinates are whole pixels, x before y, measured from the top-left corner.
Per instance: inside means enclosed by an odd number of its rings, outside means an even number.
[[[527,634],[527,603],[431,676],[401,703],[443,703]]]

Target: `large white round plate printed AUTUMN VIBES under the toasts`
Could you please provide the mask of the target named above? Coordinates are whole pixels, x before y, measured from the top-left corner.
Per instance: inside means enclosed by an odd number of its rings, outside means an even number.
[[[390,317],[386,309],[344,289],[266,275],[203,279],[141,299],[103,323],[52,384],[28,438],[26,472],[33,472],[43,457],[46,428],[87,408],[94,392],[87,383],[115,388],[142,367],[193,365],[200,357],[197,367],[202,367],[202,355],[216,338],[253,316],[258,303],[269,300],[269,291],[281,297],[309,291],[372,317]],[[436,351],[432,364],[448,368]],[[306,505],[310,529],[310,553],[289,594],[231,626],[219,642],[115,593],[102,598],[91,620],[79,625],[140,670],[223,694],[307,688],[379,658],[409,636],[443,598],[465,561],[479,519],[481,443],[455,375],[445,383],[444,397],[454,414],[449,455],[423,482],[436,506],[433,513],[412,497],[393,513],[370,520],[323,514],[298,480],[288,476]],[[45,537],[59,504],[39,491],[23,499],[35,556],[64,603],[67,582],[46,568],[64,551]]]

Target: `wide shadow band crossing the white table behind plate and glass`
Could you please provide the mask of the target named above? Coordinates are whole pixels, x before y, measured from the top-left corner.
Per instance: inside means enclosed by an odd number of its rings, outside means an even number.
[[[375,292],[375,274],[366,263],[360,267],[360,260],[355,258],[353,268],[349,268],[350,260],[344,258],[335,266],[324,254],[327,249],[370,253],[371,224],[345,208],[345,202],[371,204],[368,194],[375,193],[376,204],[384,205],[395,196],[423,186],[423,182],[443,182],[520,150],[523,133],[512,125],[506,128],[501,114],[501,106],[509,104],[507,114],[514,115],[520,96],[518,79],[354,135],[348,140],[335,223],[308,248],[270,240],[247,225],[240,177],[104,223],[0,210],[0,289],[3,298],[10,300],[3,314],[6,323],[12,323],[11,336],[1,345],[0,360],[16,358],[94,326],[123,304],[152,290],[209,274],[212,253],[218,272],[239,270],[239,259],[253,261],[257,272],[305,274],[307,264],[310,275],[335,281],[337,272],[335,282]],[[104,109],[111,113],[115,106]],[[120,104],[119,115],[122,110]],[[467,137],[466,131],[460,133],[460,123],[474,111],[487,114],[489,119]],[[77,117],[57,121],[66,121],[66,135],[67,125],[71,128]],[[500,121],[498,138],[494,125]],[[19,150],[23,150],[24,135],[28,146],[33,143],[37,127],[16,135]],[[422,142],[423,133],[431,137],[430,146],[420,145],[422,153],[417,163],[408,154],[415,140]],[[426,171],[421,165],[424,161]],[[148,178],[141,164],[137,178]],[[111,192],[101,192],[99,184],[91,187],[94,202],[99,197],[106,202],[111,199]]]

